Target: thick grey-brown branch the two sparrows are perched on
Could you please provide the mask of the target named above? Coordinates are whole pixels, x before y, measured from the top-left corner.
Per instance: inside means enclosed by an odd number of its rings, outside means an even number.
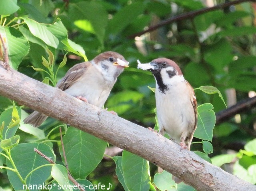
[[[180,146],[159,134],[1,66],[0,95],[137,154],[198,191],[256,190],[255,185],[204,161],[193,152],[180,151]]]

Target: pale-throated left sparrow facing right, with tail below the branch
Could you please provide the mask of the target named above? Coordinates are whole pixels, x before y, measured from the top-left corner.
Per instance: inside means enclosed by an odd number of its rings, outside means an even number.
[[[56,87],[69,95],[102,107],[106,102],[117,77],[128,67],[129,62],[116,52],[107,51],[94,59],[70,68]],[[25,124],[40,126],[48,116],[34,111],[24,119]]]

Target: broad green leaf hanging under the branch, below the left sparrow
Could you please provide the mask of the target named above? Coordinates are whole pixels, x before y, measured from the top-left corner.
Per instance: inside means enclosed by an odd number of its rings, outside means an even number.
[[[73,127],[66,131],[63,144],[68,168],[75,179],[84,179],[97,167],[107,146],[101,139]]]

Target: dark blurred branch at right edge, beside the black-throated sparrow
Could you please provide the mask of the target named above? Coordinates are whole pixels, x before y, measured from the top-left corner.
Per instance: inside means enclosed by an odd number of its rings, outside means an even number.
[[[229,120],[234,115],[256,107],[256,96],[238,102],[237,104],[216,113],[216,125]]]

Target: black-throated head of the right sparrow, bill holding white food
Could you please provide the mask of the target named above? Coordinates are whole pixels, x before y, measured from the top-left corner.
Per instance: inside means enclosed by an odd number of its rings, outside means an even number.
[[[139,60],[138,69],[151,71],[154,75],[159,89],[164,92],[168,89],[168,85],[176,82],[184,82],[180,67],[172,60],[167,58],[158,58],[150,63],[142,64]]]

